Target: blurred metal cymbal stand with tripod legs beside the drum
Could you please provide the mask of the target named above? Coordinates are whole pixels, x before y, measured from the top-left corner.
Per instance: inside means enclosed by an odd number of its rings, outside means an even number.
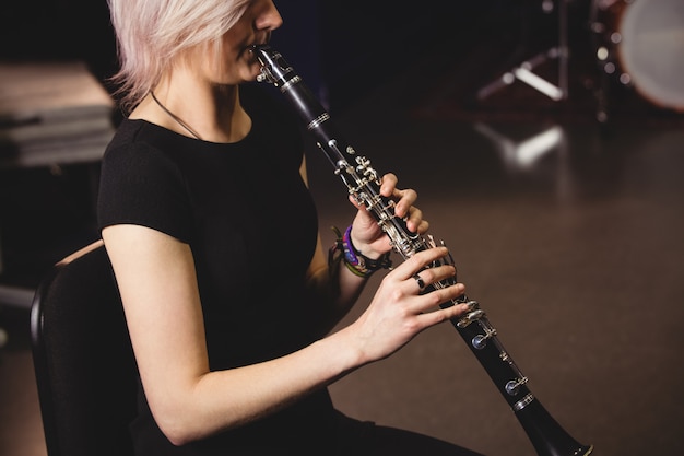
[[[522,61],[506,71],[490,84],[477,91],[477,100],[482,101],[493,93],[512,84],[516,80],[523,82],[549,96],[553,101],[565,100],[568,96],[568,33],[567,33],[567,2],[558,0],[558,46],[554,46],[544,52]],[[542,8],[545,12],[553,10],[553,1],[544,0]],[[534,68],[549,59],[558,60],[558,83],[553,84],[534,73]]]

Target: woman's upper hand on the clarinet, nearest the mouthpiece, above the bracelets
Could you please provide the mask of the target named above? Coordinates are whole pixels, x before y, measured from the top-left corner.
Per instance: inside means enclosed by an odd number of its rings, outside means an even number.
[[[397,176],[388,173],[382,176],[380,195],[394,201],[394,214],[404,219],[406,227],[413,233],[423,234],[429,227],[429,223],[423,220],[423,212],[413,206],[417,199],[417,192],[413,189],[397,188]],[[366,208],[350,197],[352,203],[358,209],[352,226],[352,244],[368,258],[378,258],[391,249],[389,237],[385,234],[377,221]]]

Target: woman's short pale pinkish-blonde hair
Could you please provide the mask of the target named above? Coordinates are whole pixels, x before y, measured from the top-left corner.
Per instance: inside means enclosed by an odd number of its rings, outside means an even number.
[[[119,70],[111,77],[119,104],[132,109],[176,57],[220,46],[250,0],[107,0],[117,37]]]

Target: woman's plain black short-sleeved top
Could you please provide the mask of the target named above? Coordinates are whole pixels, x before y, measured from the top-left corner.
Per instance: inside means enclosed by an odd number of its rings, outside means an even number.
[[[260,89],[245,85],[240,97],[252,129],[237,143],[123,120],[102,165],[101,229],[144,225],[192,249],[212,370],[305,347],[315,338],[312,306],[322,304],[304,288],[318,223],[299,175],[300,131],[284,106]],[[243,454],[237,448],[253,446],[255,440],[296,447],[305,435],[325,435],[332,412],[322,390],[259,423],[174,447],[156,428],[142,390],[140,399],[132,434],[145,456]]]

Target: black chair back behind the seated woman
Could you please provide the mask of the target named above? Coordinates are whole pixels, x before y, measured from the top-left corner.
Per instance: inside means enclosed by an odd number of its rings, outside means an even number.
[[[138,374],[102,239],[43,279],[31,337],[48,455],[131,455]]]

